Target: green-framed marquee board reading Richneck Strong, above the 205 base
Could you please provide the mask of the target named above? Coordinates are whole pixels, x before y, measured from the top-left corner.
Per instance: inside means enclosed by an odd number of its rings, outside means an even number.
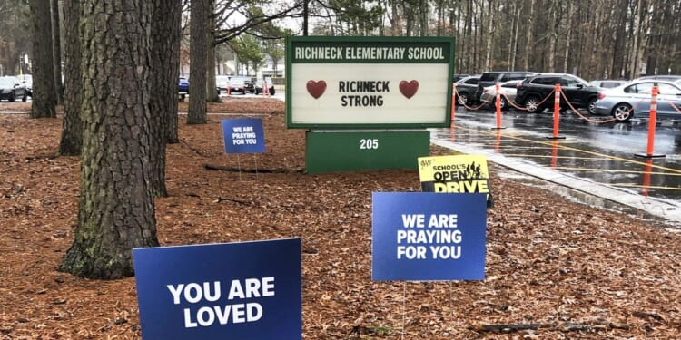
[[[453,37],[290,36],[286,127],[449,127]]]

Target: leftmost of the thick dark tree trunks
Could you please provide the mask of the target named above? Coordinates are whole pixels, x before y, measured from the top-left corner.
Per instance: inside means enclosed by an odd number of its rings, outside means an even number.
[[[55,118],[50,0],[30,0],[33,44],[33,104],[31,118]]]

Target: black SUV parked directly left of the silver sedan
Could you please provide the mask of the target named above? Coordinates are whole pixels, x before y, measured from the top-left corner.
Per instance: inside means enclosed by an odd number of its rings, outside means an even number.
[[[522,83],[518,83],[516,92],[516,102],[525,107],[528,112],[542,112],[554,103],[553,92],[557,83],[560,89],[568,98],[568,102],[575,109],[587,109],[587,112],[594,114],[594,102],[598,99],[598,88],[591,86],[577,75],[567,73],[543,73],[528,77]],[[560,96],[561,110],[567,110],[569,105],[565,98]]]

